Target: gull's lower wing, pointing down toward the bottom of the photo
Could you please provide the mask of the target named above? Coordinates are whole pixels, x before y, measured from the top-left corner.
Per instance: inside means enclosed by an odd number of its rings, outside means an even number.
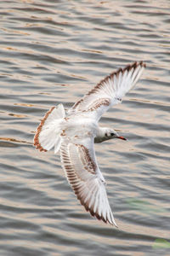
[[[105,179],[95,160],[94,138],[77,143],[64,140],[60,157],[68,182],[82,206],[92,216],[116,225],[105,190]]]

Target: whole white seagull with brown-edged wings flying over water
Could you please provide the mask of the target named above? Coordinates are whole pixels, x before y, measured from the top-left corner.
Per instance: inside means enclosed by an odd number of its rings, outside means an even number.
[[[82,206],[106,224],[116,225],[99,170],[94,143],[126,138],[107,127],[99,127],[102,114],[121,103],[144,71],[143,61],[134,62],[111,73],[88,94],[65,111],[62,104],[51,108],[43,117],[34,137],[40,151],[54,148],[60,153],[62,168]]]

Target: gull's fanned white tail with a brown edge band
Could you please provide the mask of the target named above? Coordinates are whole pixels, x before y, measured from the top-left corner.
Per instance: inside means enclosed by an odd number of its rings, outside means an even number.
[[[62,104],[51,108],[43,117],[37,127],[34,137],[34,145],[40,151],[48,151],[54,148],[57,153],[61,143],[61,122],[65,118],[65,108]]]

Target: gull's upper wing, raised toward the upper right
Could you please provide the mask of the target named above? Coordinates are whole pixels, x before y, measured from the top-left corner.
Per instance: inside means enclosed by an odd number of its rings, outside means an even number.
[[[120,68],[105,79],[101,80],[93,90],[74,104],[70,113],[91,112],[95,119],[99,120],[101,115],[113,105],[122,102],[122,97],[133,89],[144,71],[143,61],[134,62],[124,69]]]

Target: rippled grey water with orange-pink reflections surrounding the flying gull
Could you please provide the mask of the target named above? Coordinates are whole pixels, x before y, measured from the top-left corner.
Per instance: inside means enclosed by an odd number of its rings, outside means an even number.
[[[170,255],[170,2],[13,0],[0,15],[0,255]],[[101,119],[128,141],[95,147],[116,229],[32,139],[49,108],[140,60],[137,89]]]

